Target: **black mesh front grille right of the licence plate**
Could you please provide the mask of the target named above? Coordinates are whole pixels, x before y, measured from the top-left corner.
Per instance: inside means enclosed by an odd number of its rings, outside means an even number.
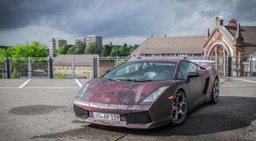
[[[125,114],[125,120],[128,124],[147,124],[152,122],[147,111]]]

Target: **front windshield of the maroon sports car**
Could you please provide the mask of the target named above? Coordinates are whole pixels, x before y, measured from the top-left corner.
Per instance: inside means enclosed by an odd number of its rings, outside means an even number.
[[[138,82],[172,80],[176,64],[171,61],[128,61],[101,78],[112,81]]]

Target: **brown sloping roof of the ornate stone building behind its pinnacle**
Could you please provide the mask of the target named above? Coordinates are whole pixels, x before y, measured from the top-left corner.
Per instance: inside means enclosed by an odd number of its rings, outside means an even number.
[[[224,26],[233,37],[236,36],[237,26]],[[241,26],[244,43],[256,43],[256,26]]]

